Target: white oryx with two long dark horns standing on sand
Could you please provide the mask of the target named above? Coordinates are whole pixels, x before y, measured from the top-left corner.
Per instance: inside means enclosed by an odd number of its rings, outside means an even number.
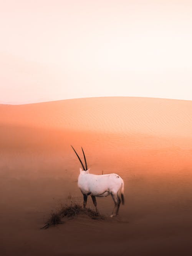
[[[71,147],[73,148],[73,146]],[[83,148],[82,148],[82,151],[83,151]],[[115,203],[111,217],[116,216],[118,214],[121,201],[122,201],[122,204],[124,204],[124,194],[123,194],[124,182],[122,178],[116,173],[105,174],[105,175],[94,175],[89,173],[90,169],[87,168],[87,162],[86,162],[84,151],[83,151],[83,156],[84,156],[86,168],[84,168],[84,165],[81,159],[79,158],[77,152],[75,150],[74,152],[76,153],[83,167],[83,170],[80,168],[80,174],[78,177],[78,187],[80,188],[83,194],[84,208],[86,208],[87,197],[90,195],[93,200],[93,204],[95,206],[96,212],[98,212],[97,202],[95,197],[96,196],[106,197],[109,194],[111,194]],[[121,196],[121,199],[120,199],[120,196]]]

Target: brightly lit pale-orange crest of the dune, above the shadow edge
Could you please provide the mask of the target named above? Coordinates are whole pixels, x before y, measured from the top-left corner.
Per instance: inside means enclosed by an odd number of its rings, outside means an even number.
[[[192,101],[103,97],[0,105],[1,124],[192,137]]]

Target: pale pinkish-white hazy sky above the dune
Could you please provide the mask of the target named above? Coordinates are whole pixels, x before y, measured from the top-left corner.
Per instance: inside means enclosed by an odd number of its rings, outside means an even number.
[[[0,3],[0,103],[192,100],[192,1]]]

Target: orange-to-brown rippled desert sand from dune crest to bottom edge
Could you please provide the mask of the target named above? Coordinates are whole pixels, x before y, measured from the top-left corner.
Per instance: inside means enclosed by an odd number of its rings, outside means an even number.
[[[90,172],[124,179],[125,205],[113,219],[79,216],[42,230],[61,203],[83,203],[71,144],[79,154],[83,146]],[[109,216],[111,197],[97,201]],[[191,256],[192,101],[0,105],[0,209],[2,256]]]

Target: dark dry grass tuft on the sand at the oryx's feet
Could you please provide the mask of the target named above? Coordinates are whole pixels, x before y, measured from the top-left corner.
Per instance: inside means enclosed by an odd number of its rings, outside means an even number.
[[[51,217],[46,221],[45,225],[41,229],[47,229],[50,226],[55,226],[57,224],[62,224],[65,221],[61,221],[62,218],[76,218],[79,214],[84,214],[89,216],[91,219],[104,220],[105,216],[103,214],[99,214],[96,211],[93,211],[90,208],[83,208],[80,204],[63,204],[60,209],[51,213]]]

